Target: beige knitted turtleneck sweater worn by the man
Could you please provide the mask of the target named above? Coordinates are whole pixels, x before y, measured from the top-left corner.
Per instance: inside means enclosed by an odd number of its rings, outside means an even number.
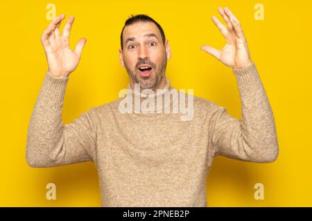
[[[279,152],[256,66],[233,71],[242,119],[214,102],[187,95],[187,100],[193,97],[190,120],[181,120],[185,114],[180,112],[164,113],[165,104],[157,109],[162,113],[139,113],[138,105],[132,113],[121,113],[121,97],[89,109],[71,124],[62,123],[69,77],[47,72],[28,127],[26,160],[33,167],[93,161],[102,206],[207,206],[206,177],[216,155],[272,162]],[[173,89],[168,79],[166,88]],[[130,95],[137,94],[131,89]],[[141,95],[139,102],[144,99]],[[173,106],[172,100],[167,104]]]

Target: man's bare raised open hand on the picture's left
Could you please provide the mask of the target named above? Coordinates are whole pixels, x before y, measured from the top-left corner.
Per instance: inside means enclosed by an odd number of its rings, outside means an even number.
[[[65,24],[62,35],[60,35],[60,23],[65,15],[55,17],[44,30],[41,36],[42,46],[49,65],[49,72],[53,77],[68,77],[78,66],[81,51],[87,39],[78,40],[75,50],[69,47],[69,35],[74,17],[71,16]]]

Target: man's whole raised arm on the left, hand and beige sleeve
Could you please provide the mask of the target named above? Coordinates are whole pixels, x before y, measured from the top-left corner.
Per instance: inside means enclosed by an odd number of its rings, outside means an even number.
[[[28,126],[26,160],[34,167],[59,166],[94,160],[96,124],[94,109],[83,113],[73,124],[62,124],[62,106],[70,73],[76,69],[86,39],[69,47],[69,35],[74,17],[71,16],[60,35],[60,23],[65,15],[55,17],[42,32],[49,70],[37,97]]]

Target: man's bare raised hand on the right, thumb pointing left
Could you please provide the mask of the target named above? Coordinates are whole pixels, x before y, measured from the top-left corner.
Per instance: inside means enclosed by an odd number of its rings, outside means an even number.
[[[214,21],[214,24],[227,40],[227,44],[222,50],[211,46],[201,46],[200,49],[213,55],[216,59],[231,68],[245,68],[249,66],[252,64],[252,61],[239,20],[227,7],[224,9],[219,7],[218,12],[223,17],[225,23],[227,23],[227,27],[214,16],[212,17],[212,21]]]

